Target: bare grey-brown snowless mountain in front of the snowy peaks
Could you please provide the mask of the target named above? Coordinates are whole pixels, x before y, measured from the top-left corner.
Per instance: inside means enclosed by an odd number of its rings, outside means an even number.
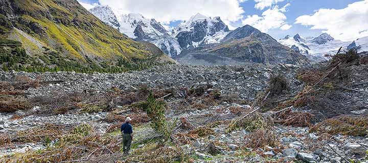
[[[309,64],[303,55],[250,25],[229,32],[220,43],[185,50],[174,59],[194,65]]]

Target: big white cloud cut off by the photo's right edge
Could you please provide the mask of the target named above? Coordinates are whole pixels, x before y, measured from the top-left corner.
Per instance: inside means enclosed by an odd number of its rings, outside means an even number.
[[[368,36],[368,0],[355,2],[343,9],[319,9],[312,15],[296,18],[312,30],[324,30],[332,37],[351,41]]]

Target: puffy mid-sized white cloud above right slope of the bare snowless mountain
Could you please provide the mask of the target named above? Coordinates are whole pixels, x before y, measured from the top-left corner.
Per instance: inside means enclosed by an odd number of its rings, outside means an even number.
[[[288,30],[292,25],[287,24],[286,16],[284,12],[287,11],[287,7],[290,4],[286,4],[281,9],[279,6],[274,6],[273,8],[267,9],[262,13],[261,16],[258,15],[248,15],[242,20],[243,25],[249,24],[254,26],[262,32],[267,32],[270,29],[280,28],[281,30]]]

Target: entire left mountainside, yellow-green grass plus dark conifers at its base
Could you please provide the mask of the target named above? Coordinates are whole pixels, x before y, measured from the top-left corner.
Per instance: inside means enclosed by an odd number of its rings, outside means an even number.
[[[104,24],[75,0],[0,1],[4,70],[120,72],[165,64],[165,55]]]

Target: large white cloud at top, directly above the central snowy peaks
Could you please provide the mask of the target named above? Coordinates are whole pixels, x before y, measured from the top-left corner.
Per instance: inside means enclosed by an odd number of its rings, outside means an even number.
[[[101,5],[110,6],[119,14],[141,13],[168,24],[174,20],[187,20],[200,12],[208,16],[220,16],[222,20],[234,22],[241,18],[244,10],[240,7],[245,0],[100,0]]]

